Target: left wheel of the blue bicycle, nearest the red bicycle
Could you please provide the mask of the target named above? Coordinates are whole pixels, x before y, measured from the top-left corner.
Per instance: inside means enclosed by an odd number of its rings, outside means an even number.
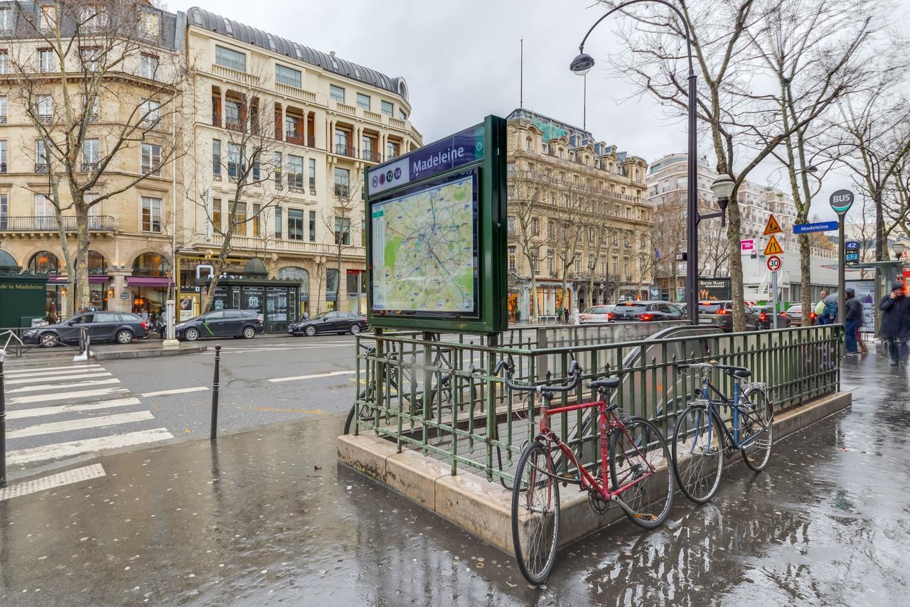
[[[676,420],[673,472],[682,493],[695,503],[709,501],[723,475],[721,422],[703,405],[692,405]]]

